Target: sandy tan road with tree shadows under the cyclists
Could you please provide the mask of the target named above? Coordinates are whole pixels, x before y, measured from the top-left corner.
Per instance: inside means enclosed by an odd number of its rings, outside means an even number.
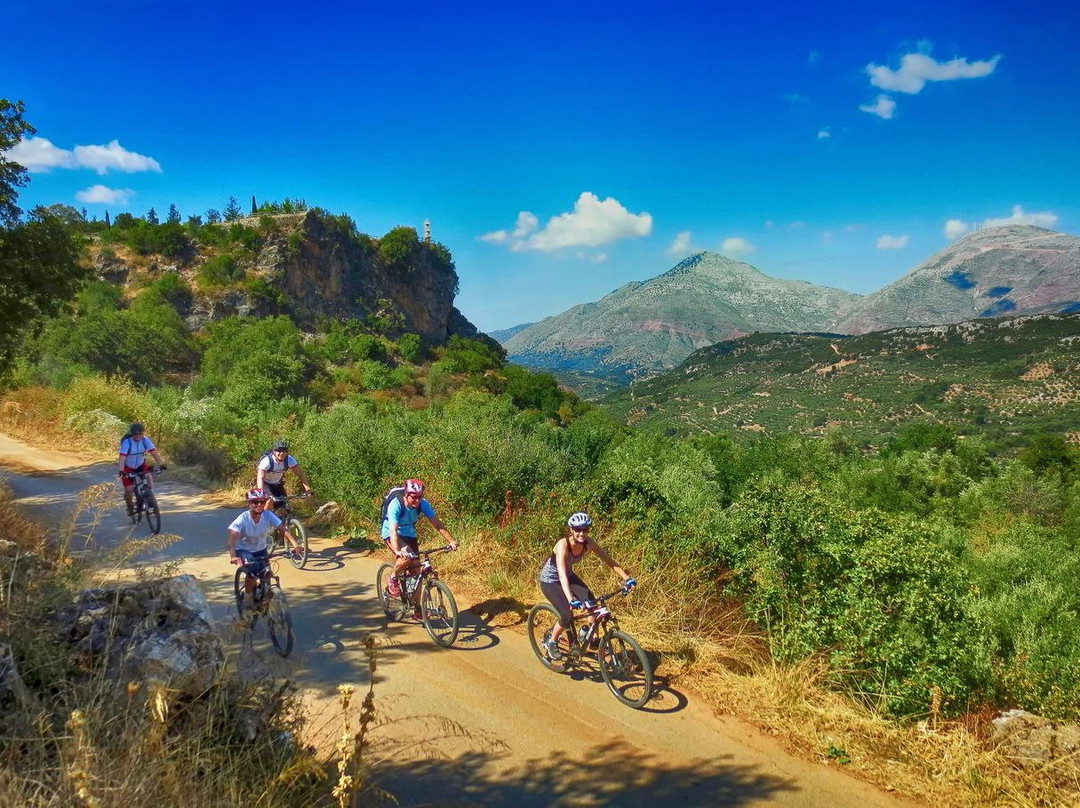
[[[16,499],[53,523],[79,491],[112,480],[114,468],[3,435],[0,462],[6,466],[0,477]],[[231,627],[232,567],[224,542],[239,507],[208,504],[167,474],[156,488],[162,529],[183,538],[150,562],[178,560],[203,581],[221,625]],[[119,493],[116,502],[94,531],[99,546],[130,534]],[[402,806],[910,805],[835,768],[794,758],[685,693],[662,690],[635,711],[619,704],[598,675],[546,671],[519,628],[489,625],[478,616],[484,609],[470,610],[474,604],[460,595],[461,633],[451,649],[440,649],[422,627],[383,616],[374,592],[381,558],[329,539],[311,544],[306,569],[282,569],[297,636],[292,658],[280,659],[261,633],[249,646],[233,643],[237,663],[297,682],[314,730],[333,737],[336,688],[351,683],[360,696],[367,687],[362,642],[374,634],[376,704],[387,719],[374,755],[384,758],[380,784]],[[229,628],[225,633],[235,636]]]

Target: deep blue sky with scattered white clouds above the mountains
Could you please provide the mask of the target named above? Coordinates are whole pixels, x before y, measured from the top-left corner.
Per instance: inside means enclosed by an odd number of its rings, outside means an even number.
[[[9,0],[22,206],[429,219],[487,331],[694,250],[866,293],[987,219],[1080,232],[1071,3],[390,5]]]

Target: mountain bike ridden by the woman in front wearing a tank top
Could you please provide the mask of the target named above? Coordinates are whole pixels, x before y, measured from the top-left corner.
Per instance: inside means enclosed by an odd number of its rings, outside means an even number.
[[[565,673],[579,666],[595,648],[600,676],[608,689],[623,704],[639,708],[652,696],[652,663],[637,641],[619,628],[619,621],[607,606],[610,598],[627,592],[619,588],[595,601],[585,601],[581,610],[589,621],[577,631],[571,625],[563,632],[556,658],[550,656],[546,648],[552,629],[558,624],[555,607],[538,603],[529,610],[526,625],[532,651],[544,668]]]

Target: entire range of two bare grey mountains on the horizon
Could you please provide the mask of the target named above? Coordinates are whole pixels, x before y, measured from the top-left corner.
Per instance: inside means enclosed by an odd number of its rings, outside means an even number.
[[[626,383],[756,332],[864,334],[1080,310],[1080,239],[1010,225],[971,233],[870,295],[770,278],[702,252],[500,341],[517,364]],[[572,383],[572,382],[571,382]]]

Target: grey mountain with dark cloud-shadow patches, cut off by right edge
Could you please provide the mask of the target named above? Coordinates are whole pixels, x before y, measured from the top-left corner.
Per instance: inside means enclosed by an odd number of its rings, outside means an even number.
[[[836,318],[829,331],[1080,311],[1080,239],[1038,227],[982,230],[935,253]]]

